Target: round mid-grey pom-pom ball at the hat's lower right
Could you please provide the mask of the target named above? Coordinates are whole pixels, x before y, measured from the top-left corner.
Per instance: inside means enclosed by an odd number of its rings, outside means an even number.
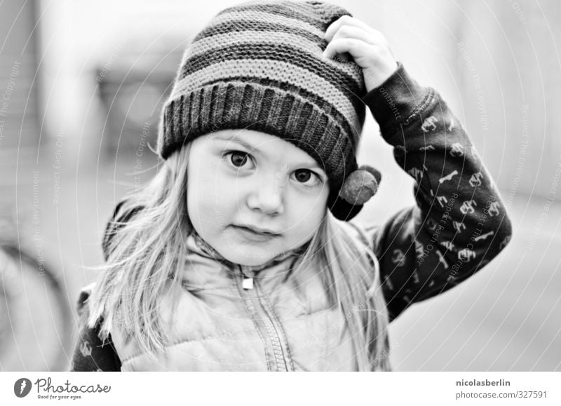
[[[363,205],[378,191],[381,182],[379,170],[369,165],[362,165],[346,177],[339,197],[351,205]]]

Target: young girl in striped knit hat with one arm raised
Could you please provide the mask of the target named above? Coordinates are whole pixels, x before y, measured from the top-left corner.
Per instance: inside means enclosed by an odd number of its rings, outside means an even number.
[[[365,106],[417,205],[351,221]],[[508,243],[504,205],[457,119],[338,6],[227,8],[184,54],[163,168],[117,206],[83,290],[72,370],[389,370],[387,326]]]

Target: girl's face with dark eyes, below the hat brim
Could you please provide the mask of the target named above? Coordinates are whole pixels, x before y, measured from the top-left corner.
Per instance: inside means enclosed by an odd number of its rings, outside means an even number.
[[[327,210],[327,175],[316,161],[290,142],[253,130],[196,138],[187,179],[195,230],[236,264],[262,265],[299,248]]]

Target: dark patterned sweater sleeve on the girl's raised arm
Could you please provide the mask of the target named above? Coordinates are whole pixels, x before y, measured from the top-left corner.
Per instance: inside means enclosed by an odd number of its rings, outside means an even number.
[[[393,320],[485,266],[510,240],[511,222],[473,144],[435,90],[419,86],[399,64],[363,100],[415,180],[417,205],[382,226],[360,227],[379,259]]]

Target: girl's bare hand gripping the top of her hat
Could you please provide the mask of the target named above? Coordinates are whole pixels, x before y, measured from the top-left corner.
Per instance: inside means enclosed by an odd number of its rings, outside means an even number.
[[[324,38],[327,48],[323,55],[332,58],[349,53],[363,69],[367,92],[384,83],[398,68],[384,34],[349,15],[332,22]]]

